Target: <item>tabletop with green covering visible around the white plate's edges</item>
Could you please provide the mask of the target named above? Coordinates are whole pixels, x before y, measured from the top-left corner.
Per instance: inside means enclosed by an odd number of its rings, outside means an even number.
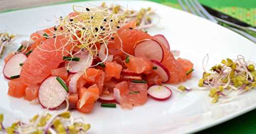
[[[67,3],[81,0],[0,0],[0,12],[17,9],[38,7],[57,3]],[[181,9],[177,0],[151,0],[170,7]],[[251,25],[256,25],[256,1],[254,0],[198,0],[200,3],[224,12],[230,16],[243,20]],[[242,116],[205,129],[198,133],[256,133],[256,110]]]

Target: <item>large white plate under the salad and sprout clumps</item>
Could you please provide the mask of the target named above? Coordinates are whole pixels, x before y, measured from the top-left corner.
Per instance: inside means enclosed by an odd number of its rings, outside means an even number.
[[[101,4],[100,1],[73,4],[86,3]],[[157,10],[161,17],[158,28],[150,29],[148,32],[152,35],[165,35],[171,49],[181,50],[181,57],[195,64],[193,78],[182,85],[196,87],[203,72],[202,60],[206,53],[209,53],[209,66],[219,63],[224,58],[236,58],[237,55],[256,61],[254,43],[208,20],[152,2],[114,3],[131,9],[152,7]],[[42,29],[40,26],[46,26],[46,19],[52,20],[54,16],[67,15],[71,12],[73,4],[2,13],[0,30],[26,35],[17,42],[29,39],[29,34]],[[2,73],[0,85],[0,113],[6,116],[4,124],[10,125],[18,118],[27,120],[42,110],[40,105],[31,105],[26,100],[8,96],[8,84]],[[149,98],[146,104],[133,110],[122,110],[119,106],[117,109],[101,108],[97,103],[92,114],[83,115],[75,112],[75,116],[83,116],[91,123],[90,133],[187,133],[214,126],[256,108],[255,90],[241,95],[241,98],[230,103],[215,106],[209,105],[207,94],[205,91],[179,94],[173,90],[173,96],[167,101]]]

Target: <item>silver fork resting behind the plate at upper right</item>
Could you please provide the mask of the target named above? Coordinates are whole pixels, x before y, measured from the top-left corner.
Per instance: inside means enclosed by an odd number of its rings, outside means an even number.
[[[256,30],[253,28],[247,28],[245,26],[237,25],[228,21],[225,21],[223,19],[211,16],[204,7],[197,1],[197,0],[178,0],[181,8],[186,11],[190,12],[192,14],[198,15],[200,17],[203,17],[205,19],[208,19],[214,23],[220,24],[224,26],[225,28],[232,30],[245,38],[251,40],[252,42],[256,43]]]

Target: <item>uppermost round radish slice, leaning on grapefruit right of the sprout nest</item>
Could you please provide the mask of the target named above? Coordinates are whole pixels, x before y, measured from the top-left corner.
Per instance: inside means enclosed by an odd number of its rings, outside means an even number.
[[[143,40],[134,46],[134,56],[162,62],[163,49],[155,40]]]

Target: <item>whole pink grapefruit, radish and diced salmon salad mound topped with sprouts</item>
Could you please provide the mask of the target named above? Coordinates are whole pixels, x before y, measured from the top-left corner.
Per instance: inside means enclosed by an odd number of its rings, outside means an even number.
[[[66,99],[81,113],[92,112],[97,100],[103,107],[118,103],[132,109],[144,104],[147,94],[169,98],[172,91],[163,83],[191,77],[193,63],[176,59],[163,35],[143,31],[153,25],[152,9],[137,14],[120,6],[73,9],[6,57],[8,95],[50,110]]]

